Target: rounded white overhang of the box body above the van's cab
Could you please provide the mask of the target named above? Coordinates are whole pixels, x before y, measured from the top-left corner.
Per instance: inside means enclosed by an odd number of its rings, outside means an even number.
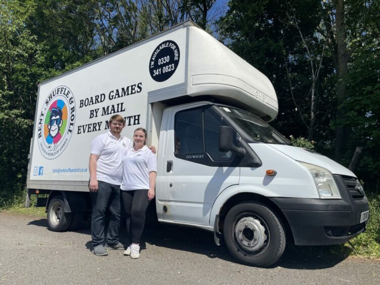
[[[278,113],[269,79],[224,44],[196,27],[189,27],[187,94],[209,94],[226,104],[252,110],[265,121]],[[204,51],[208,51],[205,53]]]

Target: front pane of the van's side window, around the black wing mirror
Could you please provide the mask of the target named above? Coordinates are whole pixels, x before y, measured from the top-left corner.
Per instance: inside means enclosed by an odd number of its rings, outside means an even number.
[[[219,127],[228,126],[227,122],[211,107],[205,108],[204,116],[206,153],[208,153],[214,161],[233,160],[235,154],[233,154],[232,152],[219,152]],[[236,133],[234,133],[234,140],[235,138]]]

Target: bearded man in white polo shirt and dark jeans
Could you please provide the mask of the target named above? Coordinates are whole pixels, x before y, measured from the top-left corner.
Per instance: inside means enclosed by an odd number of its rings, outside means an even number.
[[[113,115],[109,122],[109,131],[98,135],[92,141],[89,158],[89,191],[92,196],[91,237],[92,253],[106,256],[109,250],[124,250],[119,242],[120,224],[120,185],[123,176],[123,157],[132,147],[132,141],[120,133],[125,127],[124,118]],[[151,147],[155,153],[155,148]],[[111,220],[104,246],[104,228],[107,210]]]

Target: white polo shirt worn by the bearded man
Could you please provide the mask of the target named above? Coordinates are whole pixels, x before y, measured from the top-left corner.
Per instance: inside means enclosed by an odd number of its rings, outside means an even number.
[[[98,155],[97,179],[120,185],[123,177],[123,157],[132,147],[132,141],[120,136],[117,139],[111,131],[102,133],[92,140],[91,154]]]

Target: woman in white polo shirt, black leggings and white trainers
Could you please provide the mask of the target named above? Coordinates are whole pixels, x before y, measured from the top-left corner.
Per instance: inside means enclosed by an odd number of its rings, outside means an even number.
[[[127,229],[132,244],[124,255],[140,256],[140,238],[149,202],[155,197],[157,176],[156,156],[148,149],[147,131],[137,128],[133,134],[133,148],[123,158],[121,198],[127,215]]]

